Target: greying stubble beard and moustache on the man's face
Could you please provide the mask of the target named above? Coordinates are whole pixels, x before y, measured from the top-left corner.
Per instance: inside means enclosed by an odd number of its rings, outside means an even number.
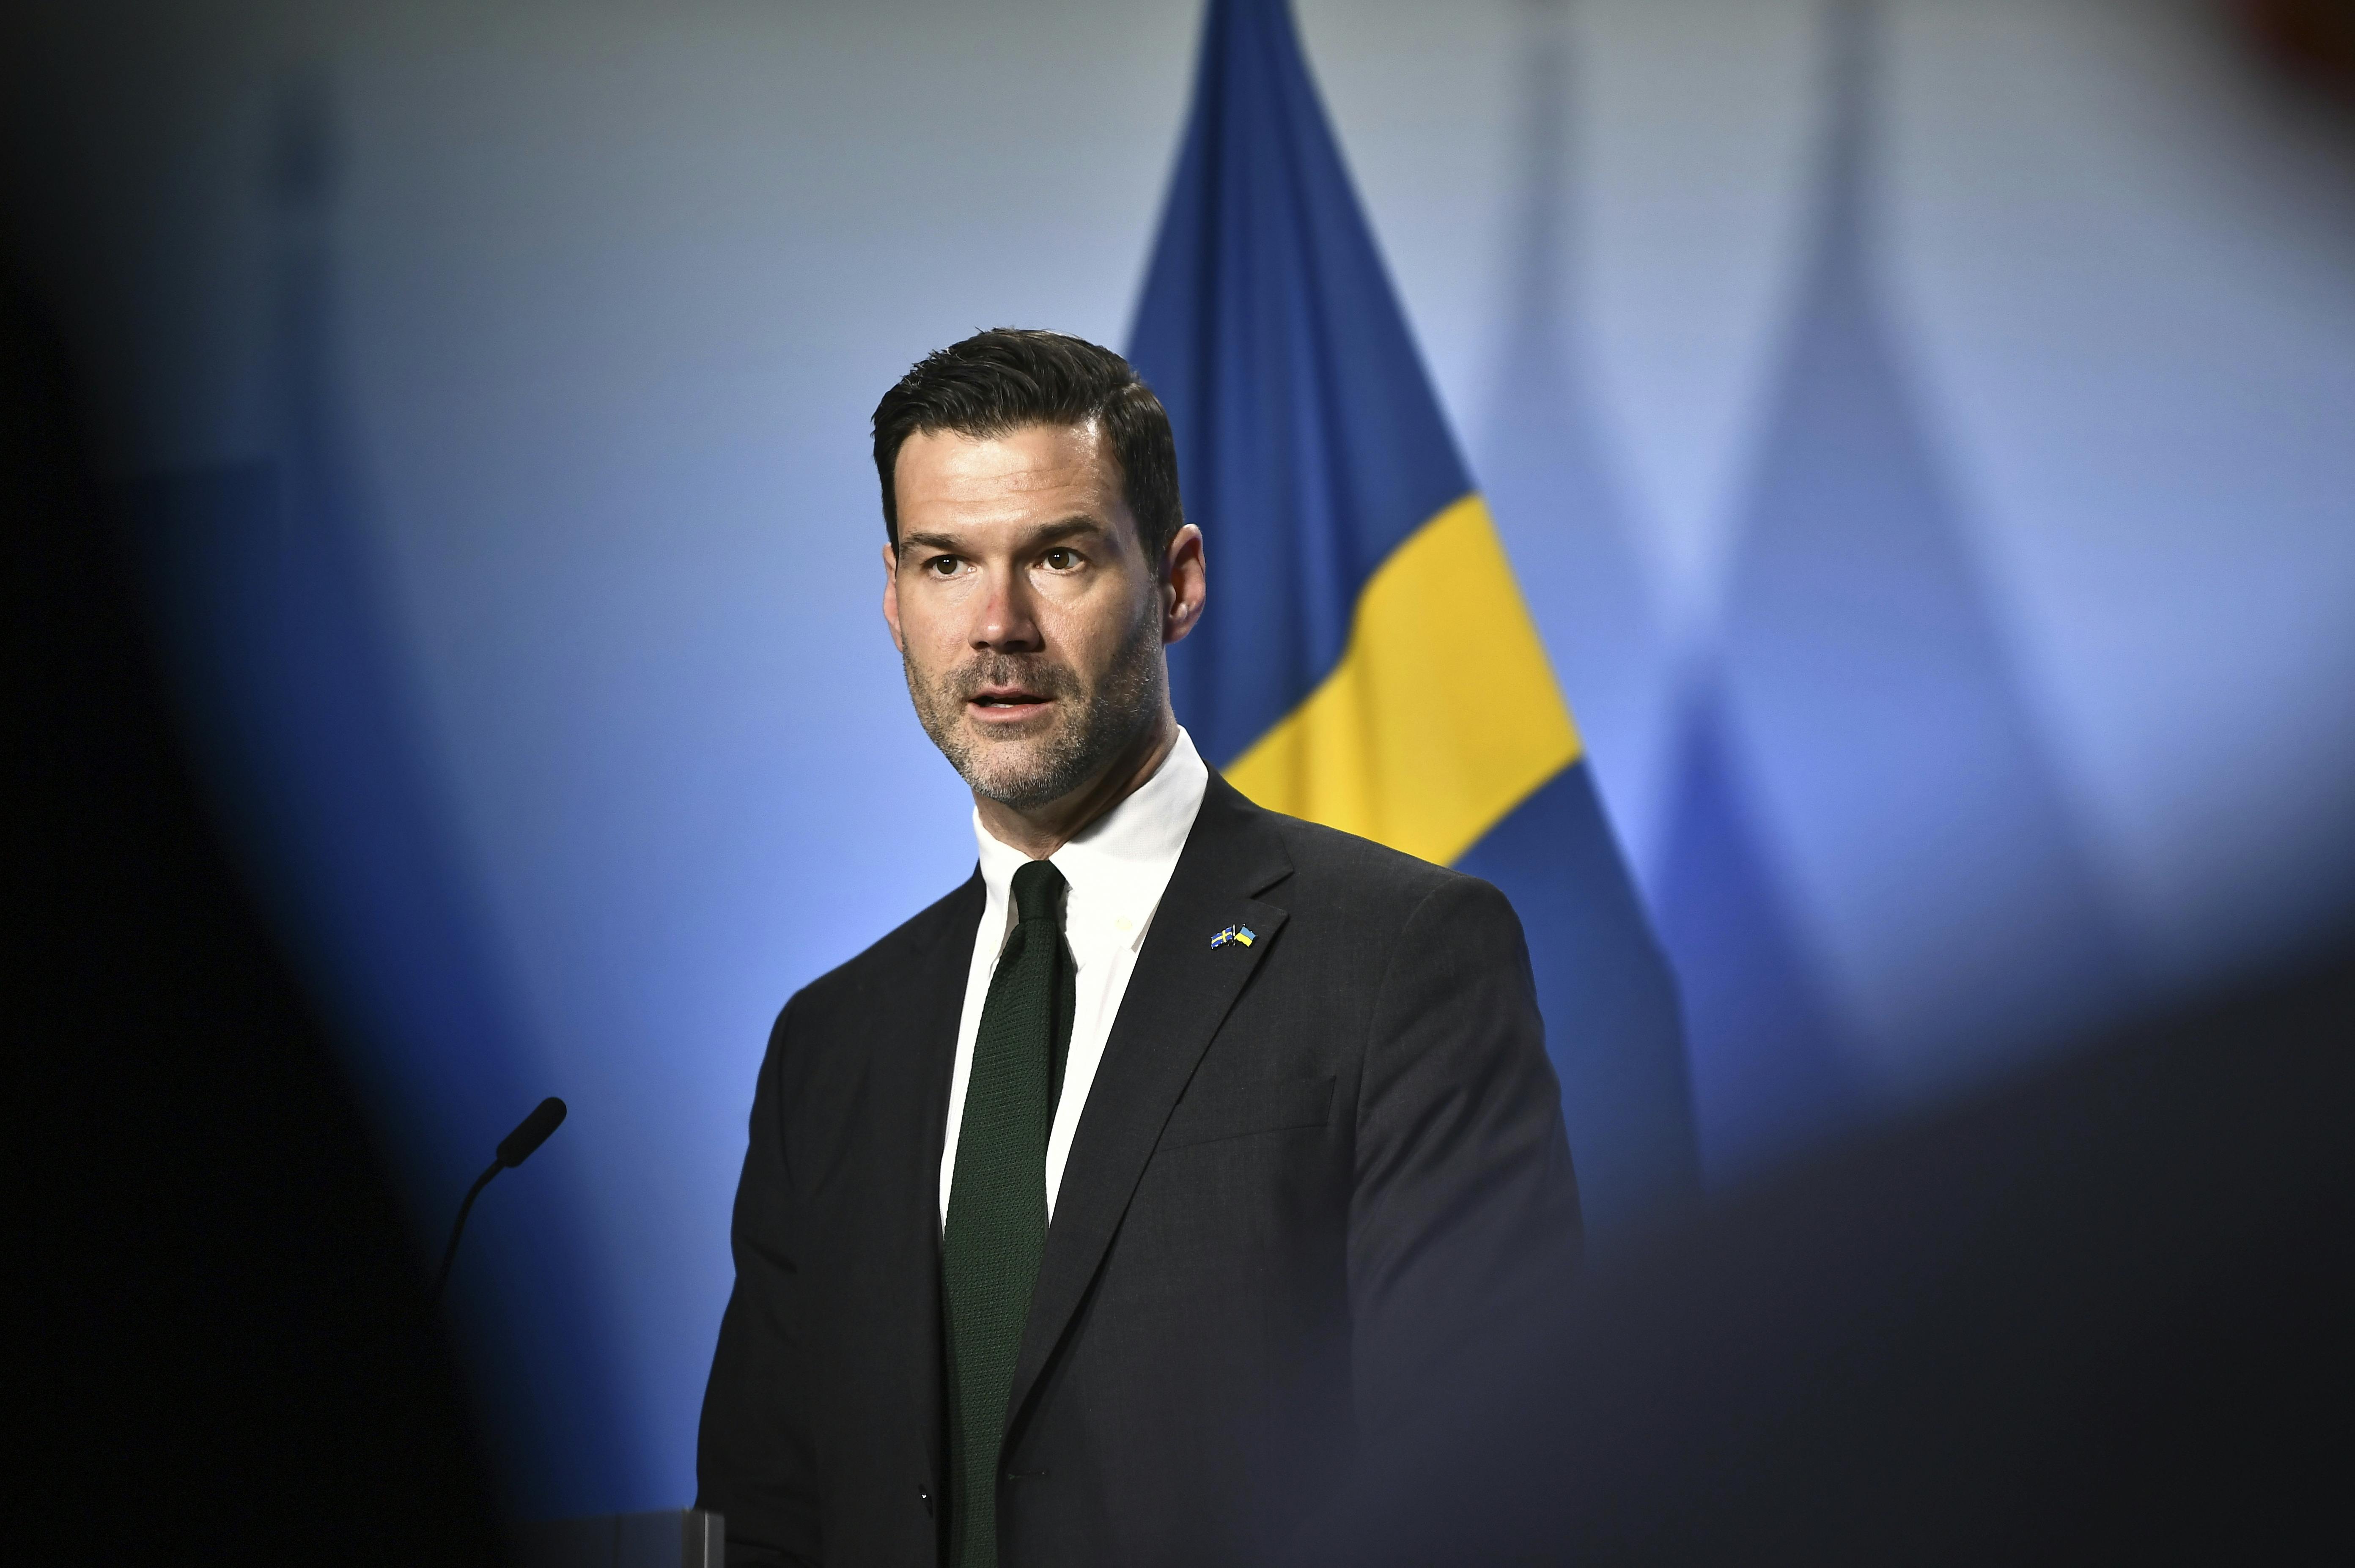
[[[1072,666],[1043,655],[982,655],[926,680],[902,652],[916,723],[973,793],[1036,810],[1102,775],[1161,713],[1161,605],[1147,596],[1112,666],[1090,692]],[[1048,727],[991,739],[966,727],[966,702],[989,685],[1022,685],[1053,697]]]

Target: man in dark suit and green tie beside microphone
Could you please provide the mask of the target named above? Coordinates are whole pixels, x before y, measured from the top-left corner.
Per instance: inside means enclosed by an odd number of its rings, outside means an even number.
[[[730,1563],[1281,1556],[1578,1189],[1491,885],[1265,812],[1178,727],[1168,417],[984,332],[876,407],[883,617],[980,869],[777,1019],[699,1443]]]

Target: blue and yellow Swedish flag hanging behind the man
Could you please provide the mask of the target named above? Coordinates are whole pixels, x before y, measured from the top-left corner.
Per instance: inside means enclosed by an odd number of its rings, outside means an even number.
[[[1178,718],[1260,805],[1502,888],[1590,1229],[1684,1198],[1674,984],[1283,0],[1210,0],[1130,360],[1213,570]]]

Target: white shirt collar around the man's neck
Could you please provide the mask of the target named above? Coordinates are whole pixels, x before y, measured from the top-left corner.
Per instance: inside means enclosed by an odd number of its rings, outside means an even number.
[[[1088,961],[1088,949],[1104,942],[1145,939],[1145,925],[1178,869],[1178,855],[1194,831],[1208,786],[1210,770],[1194,751],[1194,737],[1180,727],[1178,744],[1161,758],[1154,777],[1048,857],[1072,885],[1064,899],[1064,937],[1081,963]],[[973,812],[973,841],[982,852],[989,911],[1003,923],[1010,918],[1015,871],[1029,857],[999,843],[982,826],[980,808]]]

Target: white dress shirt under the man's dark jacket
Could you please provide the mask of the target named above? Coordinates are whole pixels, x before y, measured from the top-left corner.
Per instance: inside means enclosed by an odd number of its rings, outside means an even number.
[[[1055,1189],[1072,1156],[1072,1132],[1088,1104],[1088,1085],[1104,1059],[1104,1036],[1121,1012],[1128,975],[1137,968],[1145,928],[1154,923],[1161,890],[1170,885],[1178,852],[1194,831],[1194,815],[1210,786],[1194,739],[1178,730],[1178,744],[1161,758],[1154,777],[1088,824],[1053,855],[1055,869],[1069,883],[1062,906],[1062,937],[1079,965],[1072,1008],[1072,1052],[1062,1064],[1062,1099],[1055,1102],[1055,1128],[1046,1140],[1046,1212],[1055,1217]],[[1006,937],[1013,935],[1013,881],[1029,864],[1022,850],[999,843],[973,812],[973,838],[982,850],[982,885],[989,904],[973,937],[973,968],[966,972],[966,1012],[956,1022],[956,1069],[949,1078],[949,1137],[940,1149],[940,1222],[949,1222],[949,1187],[956,1180],[956,1135],[966,1123],[966,1083],[973,1078],[973,1041],[982,1031],[982,1003],[989,1001],[989,977],[999,968]]]

